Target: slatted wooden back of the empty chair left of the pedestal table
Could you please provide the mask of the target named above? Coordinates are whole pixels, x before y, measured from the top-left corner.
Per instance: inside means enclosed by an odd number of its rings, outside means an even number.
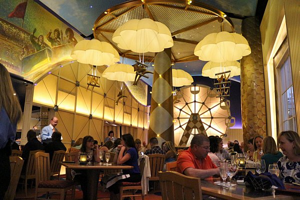
[[[49,153],[37,152],[35,153],[35,183],[46,181],[50,179],[50,158]]]

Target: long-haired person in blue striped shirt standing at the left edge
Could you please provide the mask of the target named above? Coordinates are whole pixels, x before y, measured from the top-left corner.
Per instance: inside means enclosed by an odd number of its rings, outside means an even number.
[[[10,181],[9,155],[14,141],[16,124],[21,118],[21,107],[13,95],[11,79],[7,69],[0,64],[0,199],[3,199]]]

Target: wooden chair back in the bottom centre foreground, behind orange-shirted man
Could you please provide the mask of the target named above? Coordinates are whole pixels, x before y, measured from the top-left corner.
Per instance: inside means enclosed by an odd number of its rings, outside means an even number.
[[[200,178],[176,171],[158,172],[162,200],[202,199]]]

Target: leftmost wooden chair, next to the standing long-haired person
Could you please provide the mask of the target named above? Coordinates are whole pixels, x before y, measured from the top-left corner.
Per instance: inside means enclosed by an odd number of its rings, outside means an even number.
[[[13,200],[15,196],[16,186],[22,171],[24,160],[19,156],[10,156],[10,182],[5,193],[4,199]]]

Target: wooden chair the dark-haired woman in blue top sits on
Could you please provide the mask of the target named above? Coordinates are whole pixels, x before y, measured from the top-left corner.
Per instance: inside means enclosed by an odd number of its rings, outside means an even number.
[[[141,175],[143,174],[144,166],[145,166],[145,158],[141,158],[139,161],[139,170],[140,170]],[[141,194],[134,193],[136,191],[136,189],[142,190],[141,181],[139,181],[139,182],[121,182],[120,200],[122,200],[123,197],[129,197],[129,196],[133,196],[133,199],[135,199],[135,196],[141,196],[142,200],[144,200],[144,195],[142,193]],[[123,192],[125,190],[131,190],[132,194],[128,193],[128,194],[124,195]]]

